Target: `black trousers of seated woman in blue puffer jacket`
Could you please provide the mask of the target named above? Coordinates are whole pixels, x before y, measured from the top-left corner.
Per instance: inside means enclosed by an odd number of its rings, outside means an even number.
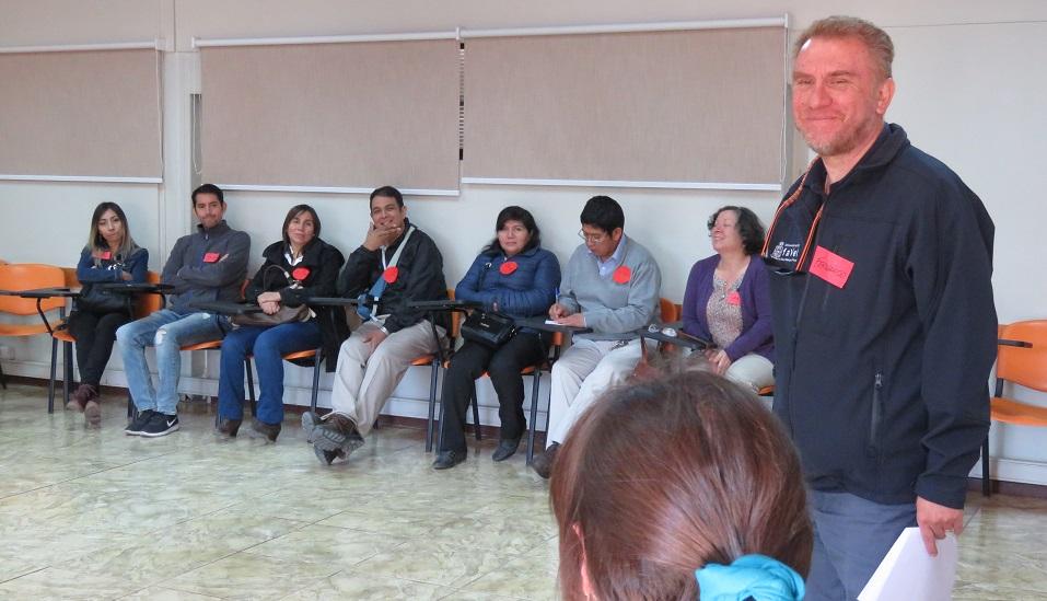
[[[527,429],[523,413],[523,377],[520,370],[540,361],[548,345],[537,334],[522,332],[498,349],[466,342],[451,359],[443,379],[443,420],[440,421],[440,451],[465,451],[465,415],[484,371],[491,377],[498,394],[498,417],[502,440],[520,438]]]

